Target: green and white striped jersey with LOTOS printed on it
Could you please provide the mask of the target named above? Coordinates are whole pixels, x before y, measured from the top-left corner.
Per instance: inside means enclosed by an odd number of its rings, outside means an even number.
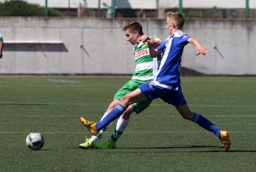
[[[150,37],[150,39],[159,40],[157,37]],[[152,81],[156,76],[156,72],[160,65],[161,55],[156,58],[150,57],[148,43],[139,43],[133,49],[135,56],[136,68],[132,74],[132,79],[139,81]]]

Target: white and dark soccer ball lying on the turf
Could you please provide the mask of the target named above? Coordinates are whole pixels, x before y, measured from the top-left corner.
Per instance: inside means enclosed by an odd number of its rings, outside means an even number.
[[[44,146],[44,137],[37,132],[30,133],[26,138],[26,144],[32,150],[39,150]]]

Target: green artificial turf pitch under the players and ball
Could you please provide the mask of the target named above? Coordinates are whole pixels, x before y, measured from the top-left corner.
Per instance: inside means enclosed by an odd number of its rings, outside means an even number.
[[[182,77],[191,111],[230,132],[218,137],[183,119],[162,100],[130,118],[111,150],[83,150],[90,133],[79,117],[99,121],[129,76],[0,76],[0,171],[240,172],[256,170],[256,78]],[[116,127],[106,130],[101,144]],[[45,145],[26,147],[40,132]]]

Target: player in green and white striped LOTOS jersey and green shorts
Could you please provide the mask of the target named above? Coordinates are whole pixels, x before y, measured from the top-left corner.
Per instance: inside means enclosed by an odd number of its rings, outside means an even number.
[[[148,37],[147,35],[144,35],[142,31],[142,25],[138,22],[131,22],[125,25],[123,27],[123,31],[125,32],[126,40],[129,41],[132,45],[136,45],[134,47],[136,68],[131,80],[127,82],[122,88],[120,88],[120,90],[118,90],[114,96],[113,102],[110,103],[102,119],[106,117],[106,115],[108,115],[108,113],[118,105],[122,96],[132,92],[133,90],[136,90],[141,84],[154,80],[154,76],[156,75],[160,65],[159,63],[161,55],[156,58],[150,57],[147,43],[148,39],[160,39],[157,37]],[[158,45],[155,47],[158,47],[161,44],[162,42],[159,41]],[[90,139],[86,139],[86,142],[80,144],[79,147],[82,149],[113,149],[116,146],[117,139],[120,137],[120,135],[122,135],[124,129],[128,126],[132,112],[135,111],[137,114],[142,112],[150,105],[151,102],[152,101],[144,101],[130,105],[118,119],[116,129],[112,136],[101,147],[99,142],[102,135],[104,135],[104,132],[106,131],[106,127],[103,128],[96,136],[92,136]],[[85,119],[81,117],[80,120],[84,124]]]

